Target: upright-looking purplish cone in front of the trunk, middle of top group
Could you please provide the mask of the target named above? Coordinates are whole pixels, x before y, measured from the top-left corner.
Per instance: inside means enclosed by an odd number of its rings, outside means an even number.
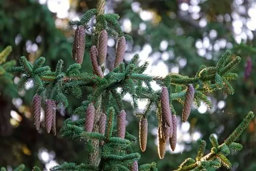
[[[98,62],[101,66],[106,60],[106,52],[108,51],[108,33],[102,30],[99,35],[98,43]]]

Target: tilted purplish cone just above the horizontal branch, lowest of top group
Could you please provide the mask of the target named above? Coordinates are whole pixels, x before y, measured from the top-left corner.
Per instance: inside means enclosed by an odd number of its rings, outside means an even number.
[[[101,67],[98,63],[97,56],[98,56],[97,48],[96,48],[96,46],[92,46],[91,51],[90,51],[90,57],[91,57],[91,61],[92,61],[93,70],[96,73],[96,75],[103,78],[103,73],[102,73]]]

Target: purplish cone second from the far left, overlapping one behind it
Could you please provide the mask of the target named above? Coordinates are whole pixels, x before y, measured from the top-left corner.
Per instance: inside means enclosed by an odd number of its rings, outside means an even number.
[[[49,99],[46,99],[45,127],[46,127],[46,132],[50,133],[52,129],[52,101]]]

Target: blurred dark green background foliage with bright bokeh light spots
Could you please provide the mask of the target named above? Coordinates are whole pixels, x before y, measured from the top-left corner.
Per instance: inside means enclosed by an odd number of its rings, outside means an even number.
[[[70,20],[81,18],[88,9],[95,8],[93,0],[0,0],[0,51],[8,45],[12,53],[7,60],[17,60],[26,56],[30,61],[44,56],[47,65],[55,69],[58,59],[65,61],[64,68],[74,63],[71,57],[74,28],[68,27]],[[201,65],[215,65],[226,49],[233,57],[240,55],[242,62],[235,72],[239,79],[233,82],[234,95],[222,92],[208,95],[214,104],[207,110],[202,104],[194,108],[189,120],[178,126],[176,151],[166,153],[163,160],[157,155],[157,122],[155,112],[148,118],[149,130],[146,152],[141,153],[140,164],[157,162],[159,170],[173,170],[188,157],[195,157],[202,138],[208,141],[214,133],[219,142],[234,130],[248,111],[256,112],[255,66],[256,62],[256,3],[253,0],[138,0],[107,1],[107,13],[120,15],[120,24],[133,40],[127,42],[125,61],[135,53],[140,54],[140,63],[150,61],[145,72],[164,76],[177,72],[195,76]],[[93,25],[91,20],[90,25]],[[90,33],[87,40],[90,41]],[[113,61],[116,39],[109,37],[108,62]],[[245,79],[248,58],[252,61],[252,71]],[[247,67],[248,68],[248,67]],[[82,63],[82,70],[91,72],[88,51]],[[14,76],[14,84],[20,75]],[[82,162],[84,144],[48,135],[41,129],[34,129],[31,117],[31,102],[35,89],[29,82],[26,91],[15,93],[14,84],[0,84],[0,166],[18,166],[24,163],[28,170],[34,165],[40,168],[67,162]],[[153,85],[154,86],[154,85]],[[84,90],[81,99],[70,96],[66,112],[57,113],[57,131],[63,120],[86,99],[89,90]],[[129,97],[124,99],[128,114],[127,131],[138,137],[139,119],[131,107]],[[182,105],[173,103],[177,115],[182,113]],[[145,102],[140,102],[141,109]],[[42,113],[44,110],[42,109]],[[76,118],[72,118],[76,119]],[[44,118],[41,118],[44,120]],[[230,156],[231,170],[256,170],[256,120],[242,134],[239,143],[244,148]],[[134,144],[140,151],[139,144]],[[169,148],[169,147],[168,147]],[[209,152],[210,145],[206,152]],[[225,170],[221,168],[219,170]]]

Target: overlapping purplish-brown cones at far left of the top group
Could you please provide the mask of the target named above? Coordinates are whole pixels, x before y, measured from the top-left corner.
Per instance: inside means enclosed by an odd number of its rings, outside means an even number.
[[[78,26],[76,28],[73,47],[72,47],[72,56],[76,63],[82,64],[83,55],[84,55],[84,46],[86,45],[86,28],[84,26]]]

